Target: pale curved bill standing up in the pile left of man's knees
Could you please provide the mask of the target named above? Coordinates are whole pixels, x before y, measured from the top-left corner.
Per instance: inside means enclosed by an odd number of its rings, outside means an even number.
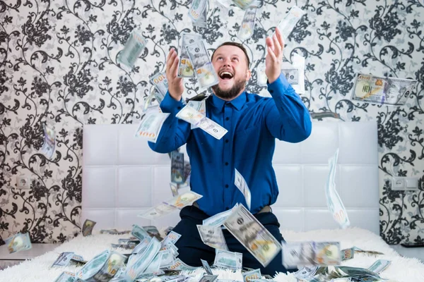
[[[152,238],[146,249],[143,252],[139,252],[136,255],[131,255],[131,259],[128,260],[126,265],[126,276],[131,281],[143,274],[148,268],[149,264],[153,261],[160,250],[160,242],[156,238]]]

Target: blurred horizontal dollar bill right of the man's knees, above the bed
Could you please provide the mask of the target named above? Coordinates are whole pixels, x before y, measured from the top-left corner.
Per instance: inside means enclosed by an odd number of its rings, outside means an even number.
[[[338,242],[283,243],[283,265],[287,268],[311,265],[337,265],[341,263]]]

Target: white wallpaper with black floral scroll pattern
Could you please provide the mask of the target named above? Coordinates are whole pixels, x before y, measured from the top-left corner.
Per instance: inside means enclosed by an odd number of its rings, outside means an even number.
[[[182,32],[203,36],[208,51],[240,42],[244,15],[210,0],[207,27],[193,27],[190,0],[0,0],[0,234],[30,231],[33,242],[62,242],[81,231],[82,130],[88,123],[137,123],[148,76]],[[285,59],[305,58],[313,113],[341,121],[377,121],[381,235],[388,243],[424,241],[424,4],[401,1],[261,0],[254,35],[245,43],[252,63],[249,92],[264,63],[265,37],[297,5],[307,12],[286,39]],[[129,32],[141,30],[146,49],[131,70],[117,63]],[[419,80],[405,106],[351,102],[354,73]],[[186,80],[186,97],[199,94]],[[334,118],[324,118],[326,121]],[[56,152],[40,153],[42,123],[54,127]],[[17,176],[31,189],[16,189]],[[416,176],[418,192],[391,190],[391,176]],[[376,188],[377,189],[377,188]]]

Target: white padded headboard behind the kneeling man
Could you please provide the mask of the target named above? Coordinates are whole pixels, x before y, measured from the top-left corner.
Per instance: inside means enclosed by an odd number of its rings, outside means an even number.
[[[172,197],[170,157],[134,137],[137,125],[84,125],[81,222],[95,228],[131,228],[137,223],[175,226],[179,213],[158,221],[136,215]],[[339,148],[336,189],[351,226],[379,234],[377,123],[314,122],[297,144],[276,141],[273,167],[280,195],[273,212],[282,229],[338,228],[326,207],[328,159]]]

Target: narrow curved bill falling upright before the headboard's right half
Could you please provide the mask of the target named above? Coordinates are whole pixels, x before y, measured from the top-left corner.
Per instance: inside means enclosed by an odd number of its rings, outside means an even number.
[[[331,214],[333,215],[334,220],[338,223],[341,228],[346,228],[351,225],[349,221],[348,214],[346,209],[341,202],[340,197],[336,191],[336,183],[334,179],[336,178],[336,165],[338,158],[338,149],[336,154],[329,159],[330,172],[325,185],[325,196],[326,203],[329,207]]]

